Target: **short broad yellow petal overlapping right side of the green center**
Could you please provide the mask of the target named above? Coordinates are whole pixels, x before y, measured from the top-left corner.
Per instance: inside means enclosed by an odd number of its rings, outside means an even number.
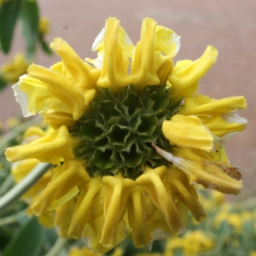
[[[212,150],[213,137],[196,116],[176,114],[163,122],[162,131],[172,145]]]

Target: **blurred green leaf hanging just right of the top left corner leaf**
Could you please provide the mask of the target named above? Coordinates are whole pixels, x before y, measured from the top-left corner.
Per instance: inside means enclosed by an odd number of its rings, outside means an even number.
[[[20,9],[21,29],[26,43],[27,59],[32,61],[38,40],[39,10],[36,1],[23,0]]]

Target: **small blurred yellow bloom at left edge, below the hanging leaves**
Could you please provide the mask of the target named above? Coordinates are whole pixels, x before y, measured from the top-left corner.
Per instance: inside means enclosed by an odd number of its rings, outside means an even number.
[[[15,84],[18,82],[19,77],[26,73],[29,65],[30,63],[26,61],[24,55],[18,53],[12,61],[1,67],[0,73],[2,73],[5,82]]]

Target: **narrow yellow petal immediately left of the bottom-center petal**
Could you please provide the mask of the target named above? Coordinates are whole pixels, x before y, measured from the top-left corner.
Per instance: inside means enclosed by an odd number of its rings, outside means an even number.
[[[80,238],[84,231],[84,225],[90,217],[90,207],[93,199],[102,190],[102,177],[91,177],[88,183],[84,183],[80,189],[76,207],[73,210],[73,218],[68,234],[73,238]]]

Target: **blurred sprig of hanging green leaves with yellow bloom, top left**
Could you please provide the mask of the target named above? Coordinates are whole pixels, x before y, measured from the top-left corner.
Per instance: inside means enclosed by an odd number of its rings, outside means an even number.
[[[51,55],[49,44],[45,41],[45,34],[40,27],[40,10],[35,0],[2,0],[0,1],[0,51],[9,54],[11,49],[15,27],[20,21],[21,33],[25,42],[26,49],[23,63],[12,61],[0,68],[0,90],[7,84],[14,84],[15,77],[18,79],[26,73],[26,68],[33,62],[36,52],[43,49],[44,53]],[[19,68],[26,67],[25,69]],[[12,79],[9,79],[11,77]]]

